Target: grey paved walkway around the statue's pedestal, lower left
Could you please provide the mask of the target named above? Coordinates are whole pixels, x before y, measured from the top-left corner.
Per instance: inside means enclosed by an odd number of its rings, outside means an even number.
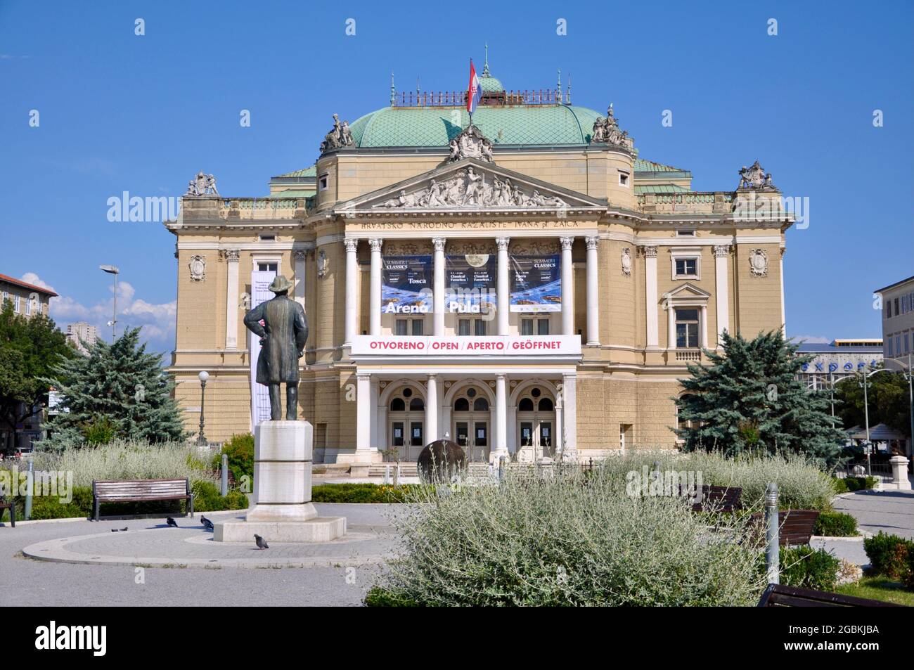
[[[0,526],[0,606],[358,605],[382,569],[377,560],[394,548],[389,518],[401,505],[315,507],[320,516],[346,516],[347,536],[322,545],[271,543],[260,551],[252,543],[213,542],[199,526],[199,514],[176,517],[177,529],[164,519]],[[205,515],[217,521],[239,512]],[[129,530],[111,532],[123,526]],[[55,543],[79,562],[33,560],[22,553]],[[136,559],[171,559],[173,553],[171,568],[147,567],[154,561],[146,561],[137,570]],[[246,567],[238,567],[239,561]],[[293,565],[308,567],[267,569]]]

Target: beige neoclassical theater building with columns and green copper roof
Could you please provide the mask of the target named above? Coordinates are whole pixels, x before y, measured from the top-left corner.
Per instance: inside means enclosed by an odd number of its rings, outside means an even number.
[[[693,191],[611,107],[506,91],[487,66],[482,89],[471,125],[465,93],[391,86],[388,106],[334,115],[316,164],[268,196],[197,175],[166,224],[188,429],[200,370],[210,440],[264,417],[242,318],[276,273],[310,326],[299,417],[327,463],[414,460],[441,437],[479,461],[673,448],[686,365],[724,330],[782,326],[792,218],[758,162]]]

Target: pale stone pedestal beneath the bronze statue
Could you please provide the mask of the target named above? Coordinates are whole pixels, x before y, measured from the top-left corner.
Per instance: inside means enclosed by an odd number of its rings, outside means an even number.
[[[314,428],[264,421],[254,431],[254,507],[244,521],[216,524],[217,542],[327,542],[345,534],[345,516],[319,517],[311,503]]]

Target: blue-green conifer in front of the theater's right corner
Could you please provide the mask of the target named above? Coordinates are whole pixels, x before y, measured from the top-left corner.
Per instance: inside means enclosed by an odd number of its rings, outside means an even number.
[[[812,356],[797,356],[780,330],[754,340],[723,336],[723,354],[706,351],[710,365],[688,367],[685,394],[675,399],[685,451],[802,452],[833,465],[844,433],[834,427],[828,398],[797,375]]]

